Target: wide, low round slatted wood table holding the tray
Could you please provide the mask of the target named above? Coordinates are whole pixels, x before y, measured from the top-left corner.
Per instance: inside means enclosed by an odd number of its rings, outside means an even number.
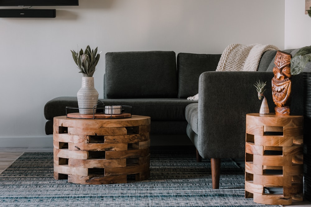
[[[148,116],[124,119],[54,117],[54,179],[78,184],[126,183],[149,178]]]

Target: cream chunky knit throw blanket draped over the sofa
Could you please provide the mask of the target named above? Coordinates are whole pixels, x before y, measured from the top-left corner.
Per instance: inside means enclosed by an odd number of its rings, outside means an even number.
[[[230,44],[222,53],[216,71],[256,71],[264,52],[279,50],[274,45]]]

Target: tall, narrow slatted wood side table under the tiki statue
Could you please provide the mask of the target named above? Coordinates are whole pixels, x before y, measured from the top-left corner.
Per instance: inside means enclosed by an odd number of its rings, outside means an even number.
[[[245,198],[273,205],[303,200],[303,124],[303,116],[246,115]]]

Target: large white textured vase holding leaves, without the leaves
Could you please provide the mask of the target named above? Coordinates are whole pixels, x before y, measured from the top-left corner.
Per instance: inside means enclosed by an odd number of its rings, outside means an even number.
[[[82,77],[82,87],[77,92],[80,114],[93,114],[98,101],[98,92],[94,88],[94,77]]]

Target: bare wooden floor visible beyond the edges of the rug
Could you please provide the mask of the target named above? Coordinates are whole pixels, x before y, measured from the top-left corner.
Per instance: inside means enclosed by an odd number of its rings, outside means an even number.
[[[0,148],[0,173],[21,156],[23,152],[53,152],[53,148]],[[306,199],[303,202],[293,200],[292,205],[289,206],[311,207],[311,202]]]

